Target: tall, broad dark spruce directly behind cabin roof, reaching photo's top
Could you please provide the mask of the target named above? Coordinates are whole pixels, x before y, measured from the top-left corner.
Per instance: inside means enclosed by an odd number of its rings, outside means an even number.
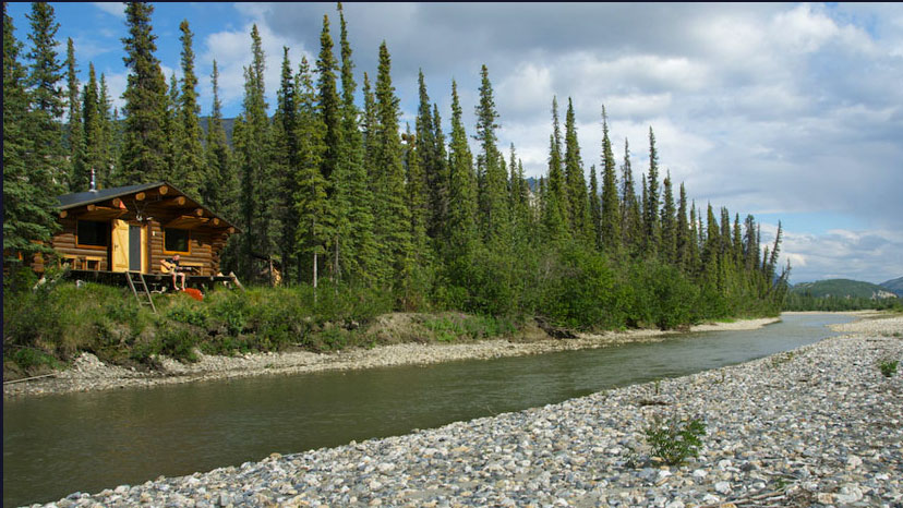
[[[152,34],[153,12],[149,3],[132,2],[125,7],[129,37],[122,43],[129,82],[122,95],[125,124],[118,182],[123,185],[162,180],[168,170],[165,159],[167,88],[160,63],[154,56],[157,37]]]

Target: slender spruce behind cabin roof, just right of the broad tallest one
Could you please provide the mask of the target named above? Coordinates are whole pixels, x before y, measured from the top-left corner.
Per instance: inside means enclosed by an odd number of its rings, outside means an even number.
[[[201,140],[204,131],[201,129],[201,120],[197,118],[201,106],[197,104],[197,76],[194,74],[194,50],[188,20],[179,25],[182,35],[179,40],[182,43],[182,89],[179,94],[179,124],[181,131],[182,146],[179,149],[179,158],[176,164],[173,184],[178,185],[185,194],[203,202],[201,190],[208,179],[207,165],[204,160],[204,147]]]

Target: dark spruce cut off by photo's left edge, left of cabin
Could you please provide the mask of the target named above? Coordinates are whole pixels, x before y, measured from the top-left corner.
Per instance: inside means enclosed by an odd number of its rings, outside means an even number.
[[[59,229],[56,196],[47,192],[49,174],[29,165],[36,140],[27,135],[26,73],[19,61],[22,44],[15,39],[12,17],[3,3],[3,264],[16,253],[50,252],[49,240]],[[38,168],[40,169],[40,168]],[[44,243],[35,243],[40,241]],[[10,255],[11,257],[7,257]]]

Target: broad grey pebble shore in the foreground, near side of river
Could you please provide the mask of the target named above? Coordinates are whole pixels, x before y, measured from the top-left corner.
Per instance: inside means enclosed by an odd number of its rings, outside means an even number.
[[[787,353],[558,404],[47,506],[903,506],[903,317]],[[643,428],[699,419],[664,465]]]

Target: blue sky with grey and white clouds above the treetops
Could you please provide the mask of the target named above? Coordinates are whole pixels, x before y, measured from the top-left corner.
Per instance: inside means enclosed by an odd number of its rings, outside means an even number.
[[[52,3],[60,59],[71,37],[82,82],[88,63],[121,106],[127,35],[120,3]],[[213,60],[224,113],[241,111],[242,69],[256,24],[275,106],[282,48],[296,66],[320,52],[324,15],[338,39],[334,3],[156,3],[157,58],[179,76],[179,23],[194,33],[202,114],[212,102]],[[27,44],[27,3],[8,4]],[[358,95],[375,82],[386,41],[392,76],[413,128],[422,70],[450,132],[457,81],[474,133],[480,68],[499,113],[499,148],[515,144],[529,177],[547,170],[552,99],[573,101],[581,156],[600,167],[602,107],[615,157],[629,141],[635,178],[648,171],[649,129],[659,165],[684,182],[697,207],[726,206],[783,227],[781,264],[791,281],[903,277],[903,4],[346,3]],[[717,211],[718,214],[718,211]]]

